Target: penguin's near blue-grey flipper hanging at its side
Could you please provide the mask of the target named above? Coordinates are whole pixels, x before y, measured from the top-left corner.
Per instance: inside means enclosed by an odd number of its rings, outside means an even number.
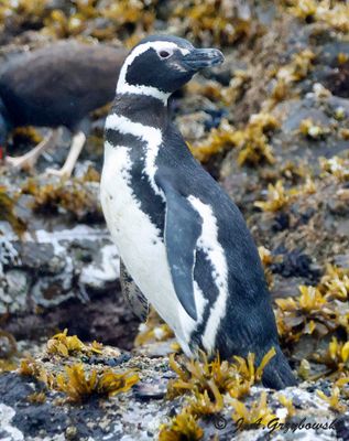
[[[165,245],[176,295],[187,314],[197,320],[194,267],[201,218],[167,180],[159,179],[166,197]]]

